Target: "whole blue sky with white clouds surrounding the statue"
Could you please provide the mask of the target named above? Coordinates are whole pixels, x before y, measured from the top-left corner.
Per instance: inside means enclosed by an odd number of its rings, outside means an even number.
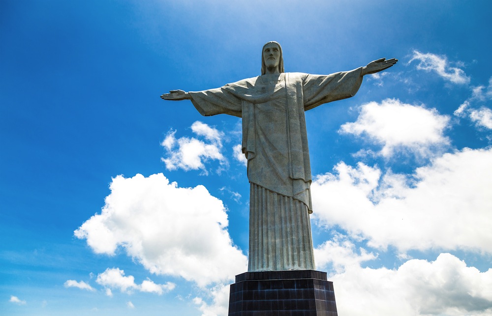
[[[240,119],[170,89],[396,57],[306,113],[340,315],[492,313],[490,1],[0,1],[3,315],[226,315]]]

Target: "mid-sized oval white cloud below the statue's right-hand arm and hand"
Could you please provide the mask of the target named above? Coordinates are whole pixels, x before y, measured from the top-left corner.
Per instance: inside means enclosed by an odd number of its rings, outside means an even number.
[[[426,109],[386,99],[380,104],[369,102],[362,105],[357,121],[345,123],[340,131],[356,136],[367,135],[377,144],[382,144],[380,154],[390,157],[398,150],[409,150],[426,157],[449,144],[443,135],[449,117],[439,115],[435,109]]]

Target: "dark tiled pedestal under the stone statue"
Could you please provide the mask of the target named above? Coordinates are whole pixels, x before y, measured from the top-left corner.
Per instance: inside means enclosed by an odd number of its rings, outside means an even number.
[[[338,316],[333,282],[313,270],[246,272],[236,276],[229,316]]]

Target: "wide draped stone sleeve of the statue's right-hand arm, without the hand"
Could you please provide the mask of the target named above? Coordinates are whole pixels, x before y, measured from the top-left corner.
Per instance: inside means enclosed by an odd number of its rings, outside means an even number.
[[[362,77],[362,67],[331,75],[306,75],[303,78],[304,109],[354,96]]]

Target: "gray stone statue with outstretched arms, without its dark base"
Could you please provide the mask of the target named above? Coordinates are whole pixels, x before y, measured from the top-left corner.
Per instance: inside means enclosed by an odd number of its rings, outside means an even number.
[[[286,73],[280,44],[268,42],[261,60],[261,76],[204,91],[171,90],[161,98],[191,100],[205,116],[243,118],[250,183],[248,271],[314,270],[304,112],[354,96],[365,75],[398,59],[381,58],[331,75]]]

